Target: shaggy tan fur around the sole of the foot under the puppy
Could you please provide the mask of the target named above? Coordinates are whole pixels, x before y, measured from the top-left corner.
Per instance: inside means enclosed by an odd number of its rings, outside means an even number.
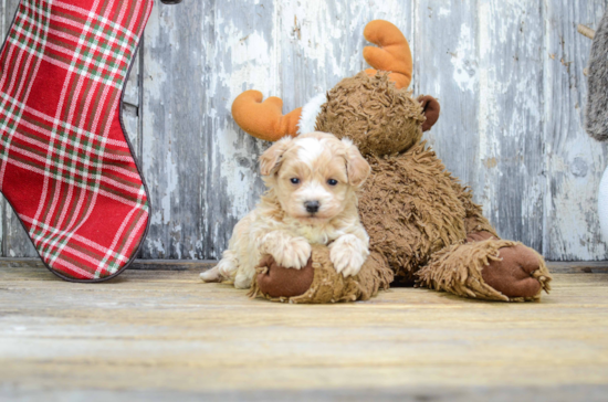
[[[259,275],[266,275],[268,271],[276,268],[272,257],[265,260],[265,262],[268,266],[261,266],[258,271]],[[310,265],[314,271],[314,278],[308,289],[302,295],[292,297],[272,296],[262,292],[259,279],[253,281],[249,295],[251,297],[265,297],[273,302],[295,304],[368,300],[370,297],[376,296],[378,290],[388,289],[389,284],[392,282],[392,271],[382,264],[381,257],[377,254],[371,254],[367,258],[356,276],[347,278],[334,269],[334,265],[329,261],[329,250],[326,246],[313,245]],[[280,269],[295,271],[282,267]]]

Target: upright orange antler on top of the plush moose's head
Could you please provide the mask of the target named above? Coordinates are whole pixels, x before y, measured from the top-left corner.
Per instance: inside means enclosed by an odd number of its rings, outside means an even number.
[[[376,75],[378,70],[390,72],[389,77],[398,88],[407,88],[411,82],[411,51],[406,36],[388,21],[375,20],[365,27],[365,39],[379,47],[366,46],[363,56],[373,68],[366,70]]]

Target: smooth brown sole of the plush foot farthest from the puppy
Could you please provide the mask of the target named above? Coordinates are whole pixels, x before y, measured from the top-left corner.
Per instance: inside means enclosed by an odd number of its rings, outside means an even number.
[[[533,298],[541,289],[548,290],[551,276],[542,257],[523,244],[503,247],[500,260],[492,260],[483,268],[483,281],[510,298]]]

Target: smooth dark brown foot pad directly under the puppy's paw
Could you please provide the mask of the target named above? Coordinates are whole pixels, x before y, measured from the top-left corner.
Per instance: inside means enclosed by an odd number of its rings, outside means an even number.
[[[303,295],[313,283],[313,258],[301,269],[281,266],[271,255],[260,261],[264,269],[258,275],[258,288],[270,297],[293,297]]]

